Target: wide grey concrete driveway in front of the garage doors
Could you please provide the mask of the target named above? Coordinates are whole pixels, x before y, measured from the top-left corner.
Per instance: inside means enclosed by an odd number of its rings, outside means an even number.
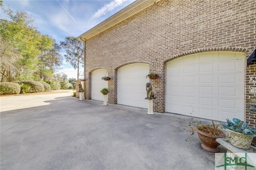
[[[190,117],[71,95],[0,98],[1,170],[214,169],[214,153],[197,135],[185,141],[179,122]]]

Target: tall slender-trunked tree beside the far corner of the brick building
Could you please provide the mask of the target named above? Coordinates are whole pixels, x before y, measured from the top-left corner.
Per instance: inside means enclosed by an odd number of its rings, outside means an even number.
[[[84,43],[78,41],[76,37],[66,37],[65,41],[60,41],[60,46],[65,50],[66,62],[70,63],[74,69],[77,68],[77,80],[79,79],[79,64],[84,60]]]

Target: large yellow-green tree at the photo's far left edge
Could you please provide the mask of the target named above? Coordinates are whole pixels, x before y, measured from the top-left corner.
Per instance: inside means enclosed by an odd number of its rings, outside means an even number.
[[[7,19],[0,19],[1,80],[12,81],[20,75],[32,75],[36,69],[41,34],[26,12],[4,12]]]

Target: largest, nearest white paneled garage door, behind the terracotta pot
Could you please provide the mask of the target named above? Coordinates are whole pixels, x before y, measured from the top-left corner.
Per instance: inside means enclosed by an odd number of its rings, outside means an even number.
[[[244,54],[200,53],[166,64],[166,112],[244,119]]]

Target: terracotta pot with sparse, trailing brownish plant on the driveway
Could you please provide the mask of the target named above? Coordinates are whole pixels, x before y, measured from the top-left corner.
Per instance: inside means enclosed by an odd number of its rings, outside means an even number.
[[[218,146],[220,144],[216,142],[216,139],[226,137],[224,132],[218,129],[220,124],[216,126],[214,121],[212,121],[212,125],[202,125],[201,121],[194,118],[192,118],[192,120],[193,121],[189,122],[188,125],[184,125],[184,127],[187,128],[187,131],[190,132],[190,136],[194,135],[194,132],[196,131],[199,139],[202,141],[201,147],[204,150],[210,152],[219,152]],[[195,124],[196,122],[198,123]]]

